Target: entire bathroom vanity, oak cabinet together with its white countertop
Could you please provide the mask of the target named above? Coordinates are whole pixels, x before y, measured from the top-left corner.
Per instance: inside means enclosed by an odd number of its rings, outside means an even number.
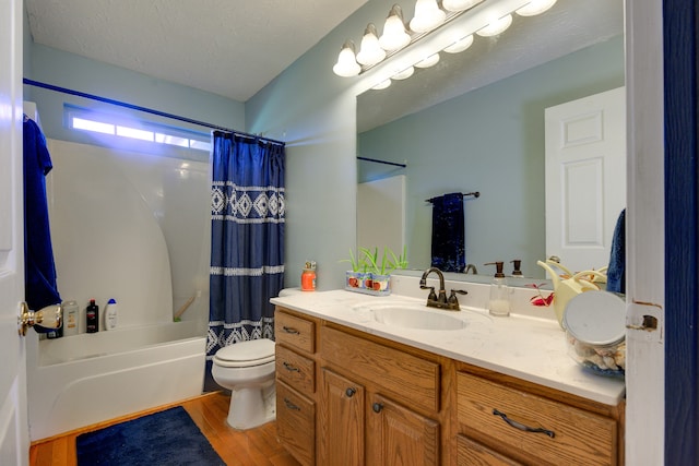
[[[577,366],[553,319],[344,290],[272,302],[279,439],[304,465],[624,464],[624,381]]]

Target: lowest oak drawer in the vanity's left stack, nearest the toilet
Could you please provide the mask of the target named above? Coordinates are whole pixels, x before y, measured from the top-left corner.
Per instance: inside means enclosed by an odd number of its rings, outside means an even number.
[[[316,462],[316,404],[294,389],[276,384],[276,434],[303,465]]]

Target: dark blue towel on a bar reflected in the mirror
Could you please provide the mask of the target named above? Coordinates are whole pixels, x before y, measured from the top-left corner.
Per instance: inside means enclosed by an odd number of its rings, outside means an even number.
[[[463,272],[464,250],[463,194],[454,192],[434,198],[433,267],[442,272]]]

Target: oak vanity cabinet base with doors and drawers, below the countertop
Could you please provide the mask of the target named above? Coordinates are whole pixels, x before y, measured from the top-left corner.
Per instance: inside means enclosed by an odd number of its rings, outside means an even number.
[[[305,466],[624,464],[624,402],[603,405],[281,307],[275,337],[277,435]]]

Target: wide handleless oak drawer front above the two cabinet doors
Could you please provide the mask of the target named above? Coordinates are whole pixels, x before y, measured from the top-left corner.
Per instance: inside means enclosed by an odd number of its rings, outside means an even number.
[[[439,411],[440,366],[399,349],[321,327],[323,358],[346,368],[403,404]]]

